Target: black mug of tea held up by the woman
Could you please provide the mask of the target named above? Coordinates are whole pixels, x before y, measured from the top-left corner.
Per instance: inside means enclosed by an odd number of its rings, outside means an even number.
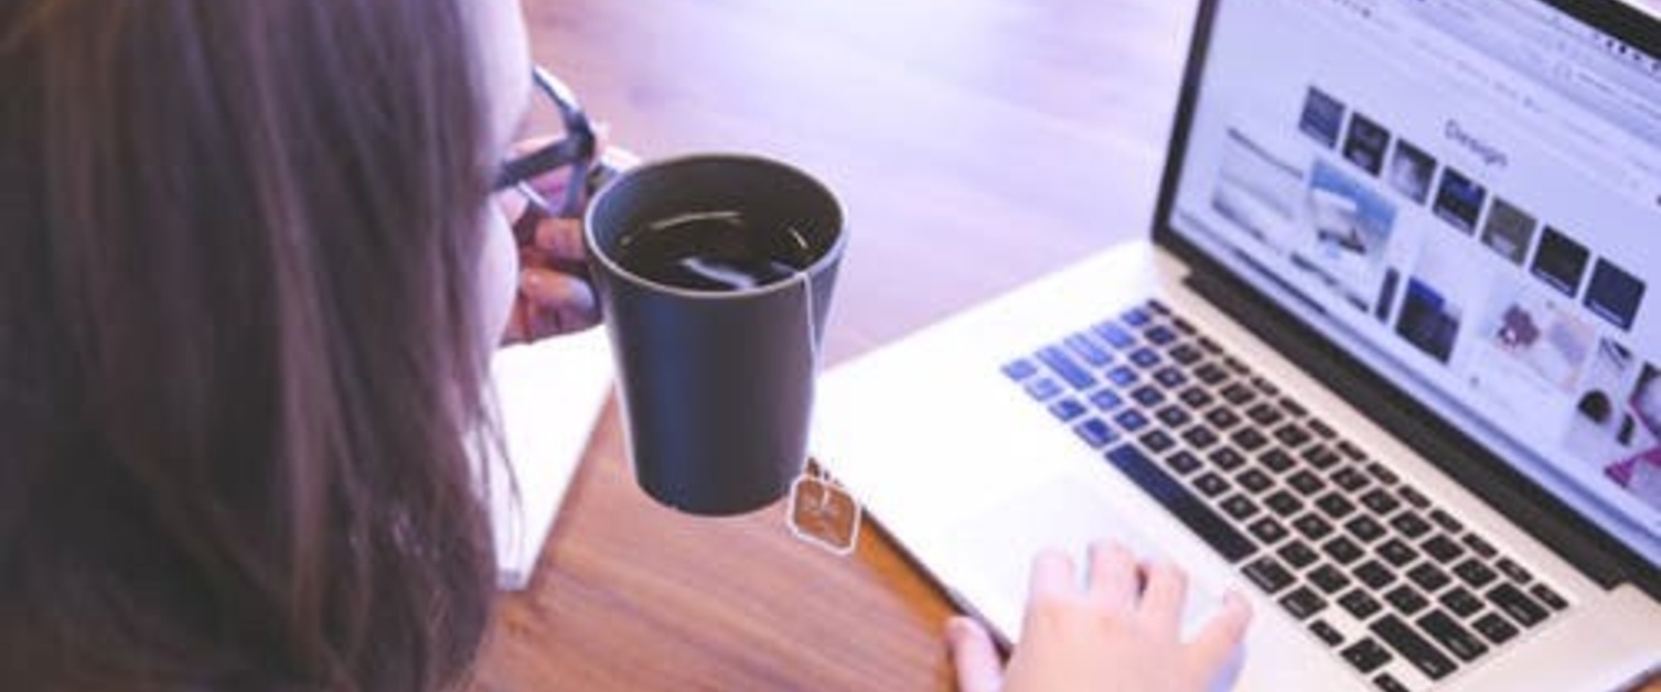
[[[583,239],[639,486],[694,514],[784,496],[847,244],[835,196],[766,158],[666,159],[601,189]]]

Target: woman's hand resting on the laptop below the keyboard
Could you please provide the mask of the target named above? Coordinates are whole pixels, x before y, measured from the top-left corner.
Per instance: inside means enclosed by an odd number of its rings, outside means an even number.
[[[1033,561],[1023,636],[1005,669],[987,629],[968,617],[947,624],[963,692],[1208,690],[1229,669],[1251,607],[1227,594],[1189,641],[1181,637],[1188,576],[1169,563],[1141,563],[1121,546],[1090,549],[1080,586],[1073,559]]]

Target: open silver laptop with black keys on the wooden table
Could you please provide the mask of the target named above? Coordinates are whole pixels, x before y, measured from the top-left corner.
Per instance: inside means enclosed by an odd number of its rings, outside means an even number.
[[[827,372],[816,456],[1005,641],[1113,538],[1252,601],[1241,689],[1633,684],[1658,60],[1610,0],[1204,0],[1149,237]]]

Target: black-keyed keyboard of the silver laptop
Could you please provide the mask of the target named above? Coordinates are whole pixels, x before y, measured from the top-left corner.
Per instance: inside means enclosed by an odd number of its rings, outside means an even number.
[[[1568,607],[1158,300],[1003,373],[1380,690],[1433,687]]]

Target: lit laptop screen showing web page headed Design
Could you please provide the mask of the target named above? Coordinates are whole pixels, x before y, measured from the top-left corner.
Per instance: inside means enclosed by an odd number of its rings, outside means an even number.
[[[1168,232],[1661,564],[1654,22],[1213,10]]]

